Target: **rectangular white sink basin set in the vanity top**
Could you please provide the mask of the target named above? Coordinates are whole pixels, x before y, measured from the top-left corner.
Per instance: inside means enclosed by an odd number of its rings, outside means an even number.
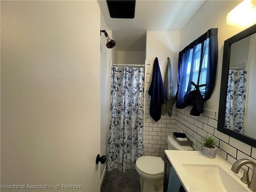
[[[190,176],[200,191],[212,192],[243,192],[248,188],[242,186],[230,174],[216,164],[182,163],[184,170]]]

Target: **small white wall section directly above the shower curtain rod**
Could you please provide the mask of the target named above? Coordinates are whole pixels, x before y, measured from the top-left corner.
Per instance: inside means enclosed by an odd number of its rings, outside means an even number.
[[[145,51],[118,51],[117,64],[145,64]]]

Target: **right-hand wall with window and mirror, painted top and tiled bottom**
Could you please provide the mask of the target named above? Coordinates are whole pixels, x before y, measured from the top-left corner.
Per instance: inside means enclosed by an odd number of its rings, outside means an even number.
[[[256,162],[256,148],[217,130],[224,40],[244,30],[244,28],[228,26],[226,15],[239,3],[240,1],[206,1],[180,33],[180,50],[182,50],[208,29],[218,28],[218,66],[212,96],[205,103],[204,114],[198,117],[190,116],[191,106],[176,109],[176,124],[178,131],[185,132],[187,137],[193,141],[194,150],[200,150],[202,136],[213,135],[218,141],[217,153],[230,163],[241,158]]]

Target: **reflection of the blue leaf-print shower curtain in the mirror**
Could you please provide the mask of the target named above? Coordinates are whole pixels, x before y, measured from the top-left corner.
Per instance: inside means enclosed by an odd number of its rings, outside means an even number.
[[[225,128],[244,134],[246,70],[229,70]]]

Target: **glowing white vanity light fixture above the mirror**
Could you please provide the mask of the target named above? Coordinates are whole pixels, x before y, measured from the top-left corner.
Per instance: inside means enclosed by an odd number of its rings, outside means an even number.
[[[256,23],[256,0],[244,0],[227,14],[226,23],[236,27],[248,27]]]

